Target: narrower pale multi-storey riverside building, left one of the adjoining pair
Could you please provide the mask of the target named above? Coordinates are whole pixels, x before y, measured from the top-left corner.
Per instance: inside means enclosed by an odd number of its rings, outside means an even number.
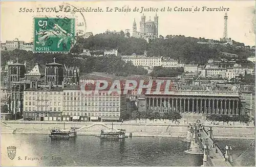
[[[32,87],[24,91],[24,120],[61,121],[62,88]]]

